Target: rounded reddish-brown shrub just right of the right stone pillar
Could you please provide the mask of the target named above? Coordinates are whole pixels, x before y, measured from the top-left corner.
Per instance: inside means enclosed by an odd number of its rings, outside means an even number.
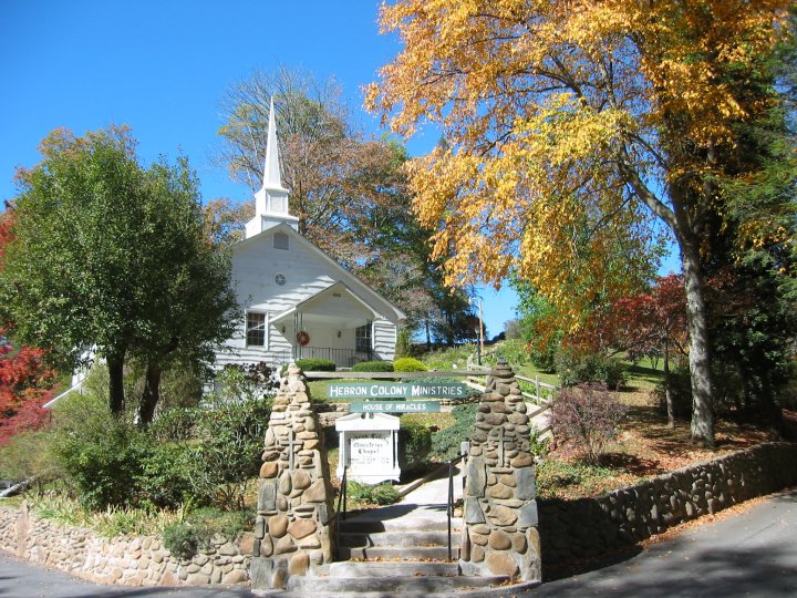
[[[553,436],[570,442],[598,464],[605,445],[614,440],[628,408],[604,386],[582,384],[563,389],[551,403],[549,421]]]

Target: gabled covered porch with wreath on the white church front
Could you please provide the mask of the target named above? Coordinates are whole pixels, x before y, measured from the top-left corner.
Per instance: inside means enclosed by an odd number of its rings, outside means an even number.
[[[291,344],[291,358],[328,359],[351,368],[373,359],[376,312],[342,282],[271,319]]]

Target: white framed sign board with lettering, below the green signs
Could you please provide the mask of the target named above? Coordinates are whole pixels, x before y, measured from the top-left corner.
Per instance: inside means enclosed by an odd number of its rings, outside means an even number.
[[[335,421],[339,434],[337,475],[362,484],[398,481],[398,417],[352,413]]]

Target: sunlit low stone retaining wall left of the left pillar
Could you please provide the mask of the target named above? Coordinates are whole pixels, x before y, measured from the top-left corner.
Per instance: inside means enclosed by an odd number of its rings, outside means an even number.
[[[179,559],[158,537],[106,539],[95,532],[39,519],[22,508],[0,507],[0,549],[97,584],[182,586],[249,580],[252,535],[218,538],[213,549]]]

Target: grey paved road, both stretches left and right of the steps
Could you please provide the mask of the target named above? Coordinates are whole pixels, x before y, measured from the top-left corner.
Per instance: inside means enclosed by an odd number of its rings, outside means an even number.
[[[211,587],[96,586],[19,563],[0,553],[0,598],[100,596],[240,598],[253,595],[244,589]],[[797,489],[773,496],[741,515],[685,530],[622,563],[544,584],[522,596],[797,596]]]

